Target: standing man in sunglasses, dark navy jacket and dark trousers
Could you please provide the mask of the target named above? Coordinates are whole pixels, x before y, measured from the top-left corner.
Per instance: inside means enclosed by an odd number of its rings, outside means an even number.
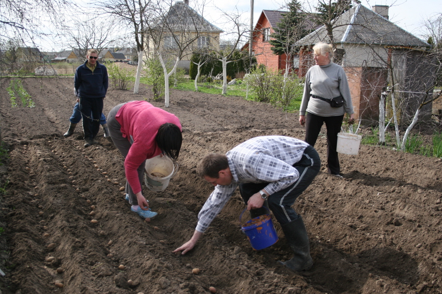
[[[93,144],[100,130],[103,99],[108,91],[109,78],[106,66],[98,62],[98,51],[89,49],[86,62],[77,68],[74,88],[78,93],[79,108],[83,119],[84,147]]]

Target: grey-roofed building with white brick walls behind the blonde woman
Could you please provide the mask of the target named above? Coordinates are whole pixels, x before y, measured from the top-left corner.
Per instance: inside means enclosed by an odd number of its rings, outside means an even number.
[[[387,63],[394,64],[402,76],[395,81],[395,94],[402,103],[402,119],[414,113],[423,90],[432,82],[427,67],[426,49],[430,45],[388,21],[388,6],[375,5],[370,10],[359,4],[337,19],[333,28],[335,63],[341,65],[350,84],[355,116],[365,124],[379,120],[379,96],[387,86]],[[299,50],[299,76],[314,65],[311,47],[319,42],[329,43],[325,26],[295,43]],[[400,71],[400,73],[398,72]],[[411,82],[413,80],[413,82]],[[430,113],[431,105],[422,112]]]

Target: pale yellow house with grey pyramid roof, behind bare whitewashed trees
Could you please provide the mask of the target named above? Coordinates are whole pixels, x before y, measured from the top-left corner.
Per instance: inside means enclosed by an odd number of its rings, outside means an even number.
[[[167,27],[174,28],[169,30],[169,33],[165,34],[161,39],[160,48],[173,51],[178,47],[175,38],[181,38],[185,35],[185,38],[198,38],[188,47],[183,58],[181,59],[178,67],[189,70],[190,60],[192,58],[192,52],[205,47],[219,48],[220,34],[222,30],[209,23],[201,15],[189,6],[189,0],[176,1],[175,4],[170,7],[166,15]],[[161,26],[161,25],[160,25]],[[184,26],[184,29],[183,29]],[[189,29],[191,28],[191,29]],[[175,36],[175,38],[174,38]],[[148,50],[147,56],[153,56],[155,52],[154,44],[151,40],[147,41]],[[145,58],[146,56],[143,56]]]

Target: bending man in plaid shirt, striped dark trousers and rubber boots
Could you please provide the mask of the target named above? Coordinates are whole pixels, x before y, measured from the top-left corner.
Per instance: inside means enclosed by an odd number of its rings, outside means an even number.
[[[269,209],[281,224],[294,257],[280,264],[300,271],[311,268],[310,245],[304,221],[292,208],[296,198],[311,184],[321,167],[318,152],[299,139],[263,136],[249,139],[225,155],[210,153],[198,164],[197,172],[215,186],[198,214],[192,238],[173,252],[185,254],[220,213],[239,186],[250,216]]]

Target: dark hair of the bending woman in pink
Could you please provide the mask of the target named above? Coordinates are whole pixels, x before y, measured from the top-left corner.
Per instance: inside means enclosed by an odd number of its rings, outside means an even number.
[[[158,129],[155,141],[161,151],[168,157],[176,160],[180,155],[183,135],[180,128],[173,123],[164,123]]]

